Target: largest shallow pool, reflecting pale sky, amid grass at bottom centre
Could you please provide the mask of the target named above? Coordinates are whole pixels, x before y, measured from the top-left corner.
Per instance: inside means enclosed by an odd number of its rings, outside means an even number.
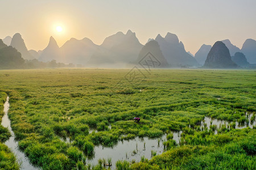
[[[174,140],[179,144],[180,135],[182,131],[172,131]],[[113,147],[95,146],[94,155],[88,158],[87,163],[96,165],[98,159],[112,158],[112,167],[115,169],[115,162],[117,160],[127,160],[131,162],[133,159],[138,162],[142,156],[146,159],[151,158],[151,151],[156,151],[156,155],[160,155],[164,152],[163,142],[167,141],[167,134],[164,134],[160,138],[139,138],[130,139],[129,141],[119,141],[117,145]]]

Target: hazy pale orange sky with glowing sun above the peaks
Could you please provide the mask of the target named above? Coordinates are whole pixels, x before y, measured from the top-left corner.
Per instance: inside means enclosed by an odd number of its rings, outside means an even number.
[[[0,0],[0,6],[0,39],[19,32],[34,50],[46,48],[50,36],[59,46],[71,37],[100,45],[128,29],[142,44],[175,33],[192,54],[218,40],[238,48],[256,40],[255,0]]]

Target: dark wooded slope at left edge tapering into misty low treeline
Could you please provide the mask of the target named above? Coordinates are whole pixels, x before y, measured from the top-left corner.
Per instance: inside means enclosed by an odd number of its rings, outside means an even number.
[[[12,46],[7,46],[0,39],[0,69],[43,69],[60,67],[75,67],[75,65],[72,63],[68,65],[57,63],[54,59],[50,62],[40,62],[38,59],[28,61],[22,58],[18,50]]]

